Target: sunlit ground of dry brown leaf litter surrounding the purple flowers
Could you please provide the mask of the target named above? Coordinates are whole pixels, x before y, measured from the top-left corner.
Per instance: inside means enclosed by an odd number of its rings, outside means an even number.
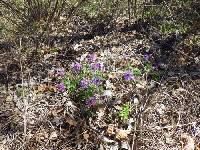
[[[144,22],[85,35],[44,45],[37,60],[1,43],[0,149],[199,150],[200,45]],[[57,86],[58,68],[76,78],[71,65],[88,56],[103,64],[95,104]]]

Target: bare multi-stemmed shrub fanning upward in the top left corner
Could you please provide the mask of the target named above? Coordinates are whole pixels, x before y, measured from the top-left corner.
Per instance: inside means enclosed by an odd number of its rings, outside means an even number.
[[[0,1],[3,17],[12,25],[12,34],[43,35],[63,12],[65,0]]]

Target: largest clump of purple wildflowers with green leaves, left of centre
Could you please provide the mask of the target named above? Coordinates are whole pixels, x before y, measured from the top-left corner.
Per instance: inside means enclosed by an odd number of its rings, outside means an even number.
[[[105,80],[104,65],[96,59],[94,54],[87,55],[84,60],[73,62],[68,72],[63,68],[57,69],[58,91],[67,92],[86,105],[94,105],[96,97],[103,93],[102,83]]]

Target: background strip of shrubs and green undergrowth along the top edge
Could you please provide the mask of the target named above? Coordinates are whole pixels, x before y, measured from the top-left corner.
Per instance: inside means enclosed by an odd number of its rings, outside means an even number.
[[[50,24],[55,22],[60,15],[86,14],[96,23],[109,15],[124,14],[128,7],[132,7],[133,11],[136,8],[140,9],[135,10],[139,13],[138,16],[149,19],[164,34],[184,33],[196,21],[196,18],[199,18],[199,3],[191,0],[163,1],[159,5],[149,2],[144,7],[127,4],[127,0],[4,0],[0,1],[0,9],[7,21],[13,25],[12,30],[17,30],[17,34],[41,34],[50,31]],[[7,25],[0,25],[0,32],[4,32],[5,27],[7,28]]]

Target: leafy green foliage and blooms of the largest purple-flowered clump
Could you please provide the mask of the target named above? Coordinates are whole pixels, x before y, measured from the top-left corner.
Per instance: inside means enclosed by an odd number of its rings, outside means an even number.
[[[79,102],[87,102],[94,95],[100,95],[103,92],[102,82],[105,76],[102,68],[93,68],[93,65],[99,64],[100,62],[91,63],[87,60],[73,63],[71,70],[59,78],[60,83],[64,83],[64,87],[59,91],[66,90]]]

